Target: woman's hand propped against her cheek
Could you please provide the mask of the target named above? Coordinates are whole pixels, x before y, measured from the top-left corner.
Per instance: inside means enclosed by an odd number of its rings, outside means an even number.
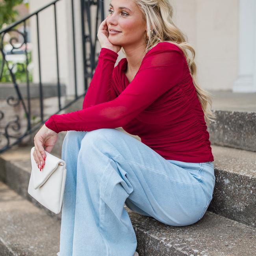
[[[108,18],[108,17],[107,17]],[[109,42],[108,37],[108,25],[107,25],[107,18],[104,19],[98,28],[98,33],[97,37],[100,42],[100,46],[103,48],[108,48],[110,50],[113,50],[114,52],[118,53],[122,46],[121,45],[113,45],[112,43]]]

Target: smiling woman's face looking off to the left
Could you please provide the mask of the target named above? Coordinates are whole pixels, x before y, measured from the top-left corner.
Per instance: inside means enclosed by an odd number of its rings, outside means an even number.
[[[143,13],[134,1],[112,0],[108,12],[106,20],[108,30],[112,28],[120,31],[109,33],[110,43],[121,46],[145,43],[146,22],[143,20]]]

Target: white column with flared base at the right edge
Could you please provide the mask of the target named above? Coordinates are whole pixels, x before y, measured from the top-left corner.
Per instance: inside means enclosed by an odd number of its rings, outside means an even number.
[[[256,92],[255,0],[239,0],[239,67],[233,92]]]

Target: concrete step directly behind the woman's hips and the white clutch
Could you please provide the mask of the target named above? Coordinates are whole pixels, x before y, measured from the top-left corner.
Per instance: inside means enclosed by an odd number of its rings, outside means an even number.
[[[30,146],[17,146],[0,154],[0,179],[24,198],[44,208],[27,193],[31,173],[30,149]],[[215,145],[212,149],[216,182],[208,210],[253,227],[256,217],[256,152]],[[55,155],[61,157],[61,154]],[[60,219],[60,213],[55,215],[45,210]]]

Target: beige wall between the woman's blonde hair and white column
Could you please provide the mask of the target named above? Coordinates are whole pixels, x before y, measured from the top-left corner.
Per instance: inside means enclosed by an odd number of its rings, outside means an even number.
[[[209,90],[232,90],[237,78],[239,0],[171,0],[194,47],[197,78]]]

